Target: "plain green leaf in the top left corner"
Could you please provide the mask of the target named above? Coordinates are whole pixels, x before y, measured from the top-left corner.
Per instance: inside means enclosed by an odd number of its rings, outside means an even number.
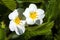
[[[4,3],[10,10],[16,9],[16,1],[14,0],[2,0],[2,3]]]

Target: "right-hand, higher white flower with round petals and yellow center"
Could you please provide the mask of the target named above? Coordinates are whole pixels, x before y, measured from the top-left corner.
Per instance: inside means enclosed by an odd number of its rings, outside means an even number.
[[[44,10],[42,9],[37,9],[35,4],[30,4],[29,8],[26,8],[24,11],[23,15],[26,17],[26,22],[27,24],[33,25],[33,24],[42,24],[43,23],[43,18],[45,16]],[[39,20],[40,22],[36,22]]]

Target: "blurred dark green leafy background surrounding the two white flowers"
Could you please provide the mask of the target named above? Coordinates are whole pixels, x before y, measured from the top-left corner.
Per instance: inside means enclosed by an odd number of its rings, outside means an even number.
[[[45,11],[42,25],[26,26],[23,35],[9,30],[8,15],[34,3]],[[60,0],[0,0],[0,40],[60,40]]]

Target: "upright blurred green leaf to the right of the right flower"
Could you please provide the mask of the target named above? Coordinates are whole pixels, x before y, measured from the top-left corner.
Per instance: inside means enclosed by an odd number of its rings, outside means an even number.
[[[57,2],[56,0],[50,0],[46,6],[46,20],[52,21],[57,17]]]

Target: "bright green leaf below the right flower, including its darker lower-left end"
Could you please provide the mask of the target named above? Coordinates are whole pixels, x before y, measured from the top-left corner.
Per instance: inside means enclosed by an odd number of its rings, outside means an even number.
[[[46,35],[47,33],[51,32],[51,28],[53,27],[54,22],[44,23],[41,26],[36,26],[36,28],[31,27],[27,28],[25,34],[23,34],[23,37],[28,40],[32,36],[37,35]]]

